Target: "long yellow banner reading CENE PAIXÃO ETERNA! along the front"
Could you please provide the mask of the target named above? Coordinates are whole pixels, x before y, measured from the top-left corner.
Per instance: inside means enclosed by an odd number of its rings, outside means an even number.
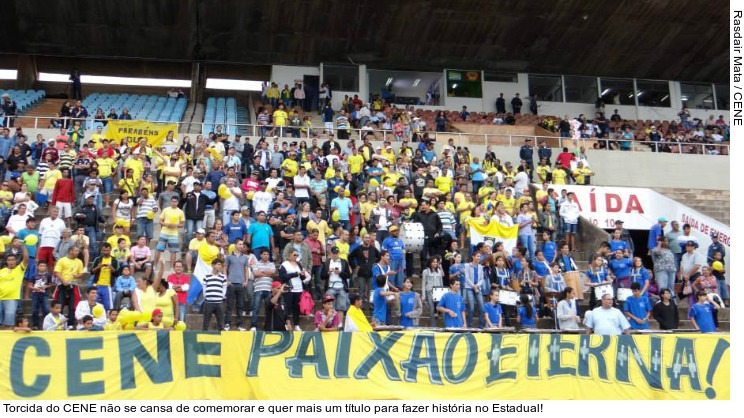
[[[8,332],[0,398],[729,399],[729,347],[691,334]]]

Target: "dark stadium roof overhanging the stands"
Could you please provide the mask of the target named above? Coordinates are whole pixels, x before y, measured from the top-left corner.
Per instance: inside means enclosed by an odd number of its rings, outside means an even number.
[[[4,2],[4,52],[728,83],[729,2]]]

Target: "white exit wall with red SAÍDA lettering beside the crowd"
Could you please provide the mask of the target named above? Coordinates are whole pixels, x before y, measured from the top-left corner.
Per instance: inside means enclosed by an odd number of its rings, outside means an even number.
[[[542,185],[535,184],[538,189]],[[710,235],[719,233],[719,240],[727,247],[731,245],[731,230],[728,225],[703,215],[652,189],[636,187],[603,187],[553,184],[550,187],[559,195],[562,190],[573,192],[579,202],[581,216],[602,229],[614,229],[615,220],[622,220],[626,229],[648,230],[664,216],[669,222],[676,220],[682,225],[690,224],[692,235],[700,244],[704,254],[712,243]],[[671,230],[668,224],[665,232]],[[707,255],[707,254],[706,254]]]

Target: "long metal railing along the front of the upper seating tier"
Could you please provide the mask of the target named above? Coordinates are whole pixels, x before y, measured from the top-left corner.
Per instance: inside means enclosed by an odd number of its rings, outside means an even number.
[[[51,124],[51,121],[53,120],[60,120],[60,118],[56,117],[49,117],[49,116],[16,116],[16,120],[33,120],[33,129],[47,129],[49,128],[49,125]],[[86,119],[86,122],[90,121],[90,119]],[[205,123],[205,122],[168,122],[168,121],[149,121],[152,123],[168,123],[168,124],[177,124],[179,126],[179,136],[192,136],[192,135],[206,135],[208,134],[204,132],[204,126],[218,126],[221,125],[223,127],[223,132],[229,133],[230,135],[234,135],[235,132],[238,132],[238,128],[245,128],[240,129],[243,132],[247,132],[247,134],[241,134],[243,136],[251,136],[251,137],[260,137],[261,136],[261,125],[256,124],[219,124],[219,123]],[[199,132],[182,132],[182,127],[193,127],[197,126],[200,127],[198,130]],[[304,128],[300,127],[300,129]],[[58,128],[50,128],[50,129],[58,129]],[[287,136],[291,135],[291,132],[293,129],[289,126],[283,127],[284,131],[284,137],[287,139],[292,139],[293,137]],[[278,134],[278,128],[275,128],[273,135]],[[88,133],[90,133],[90,129],[86,130]],[[314,131],[318,138],[324,139],[327,137],[327,133],[325,131],[325,128],[323,126],[314,126],[312,128],[312,131]],[[333,129],[334,135],[336,135],[336,139],[338,139],[338,128]],[[363,137],[363,135],[369,135],[370,133],[373,135],[372,141],[390,141],[390,142],[397,142],[399,141],[398,137],[395,135],[395,132],[393,130],[386,130],[386,129],[372,129],[372,130],[366,130],[366,129],[358,129],[358,128],[351,128],[348,129],[348,138],[349,139],[355,139],[358,140]],[[495,147],[519,147],[526,143],[526,139],[532,140],[532,147],[537,148],[538,144],[545,141],[546,145],[551,148],[569,148],[569,149],[575,149],[578,147],[585,147],[587,151],[608,151],[607,149],[595,149],[594,144],[600,143],[604,141],[608,141],[611,144],[620,144],[622,142],[622,139],[605,139],[605,138],[580,138],[580,139],[573,139],[573,138],[565,138],[565,137],[559,137],[559,136],[540,136],[540,135],[521,135],[521,134],[476,134],[476,133],[467,133],[467,132],[435,132],[435,131],[425,131],[422,132],[427,133],[429,137],[433,137],[437,140],[440,144],[446,144],[450,139],[454,139],[456,146],[472,146],[472,145],[485,145],[485,146],[495,146]],[[269,136],[273,136],[269,135]],[[300,134],[300,138],[295,139],[311,139],[312,137],[308,138],[305,133]],[[302,136],[305,135],[305,136]],[[404,134],[405,135],[405,134]],[[30,140],[32,140],[31,138]],[[640,147],[639,147],[640,145]],[[704,154],[704,155],[729,155],[729,143],[696,143],[696,142],[654,142],[654,141],[632,141],[630,149],[623,150],[627,152],[653,152],[654,148],[662,148],[665,145],[668,145],[672,153],[676,154]],[[709,149],[709,147],[711,149]],[[640,148],[640,149],[639,149]],[[612,151],[612,150],[609,150]],[[620,151],[620,150],[615,150]],[[668,151],[665,153],[669,153]]]

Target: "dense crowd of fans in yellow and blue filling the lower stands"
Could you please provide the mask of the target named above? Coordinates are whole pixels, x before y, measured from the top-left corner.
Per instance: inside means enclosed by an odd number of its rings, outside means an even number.
[[[321,331],[366,329],[359,315],[365,309],[375,327],[422,325],[424,305],[431,326],[529,329],[550,316],[578,328],[581,283],[572,288],[567,279],[578,272],[572,251],[581,245],[580,213],[571,193],[550,185],[590,183],[583,147],[564,148],[553,161],[544,142],[535,147],[527,139],[515,167],[502,164],[491,147],[471,155],[452,139],[437,152],[434,140],[411,125],[395,135],[397,149],[391,141],[373,146],[371,135],[338,142],[332,125],[326,140],[308,127],[308,140],[298,142],[286,138],[299,134],[292,125],[283,129],[284,108],[277,101],[255,144],[221,127],[193,144],[171,133],[156,147],[144,138],[112,144],[102,128],[86,140],[77,121],[32,145],[22,129],[13,137],[6,129],[3,325],[14,324],[23,297],[32,300],[33,329],[182,328],[191,311],[203,314],[203,329],[214,316],[225,330],[300,330],[315,301],[322,302],[315,313]],[[372,123],[359,112],[339,123],[345,114],[341,109],[336,117],[339,137],[348,135],[345,123]],[[391,122],[410,116],[403,111]],[[542,187],[533,198],[535,179]],[[47,216],[37,225],[40,207]],[[503,243],[471,243],[469,226],[491,221],[518,225],[520,245],[506,251]],[[420,251],[407,250],[402,235],[414,224]],[[661,275],[630,261],[632,247],[617,243],[627,241],[627,232],[614,235],[591,260],[585,285],[633,289],[632,297],[645,302],[626,301],[626,315],[633,328],[648,328],[640,310],[652,306],[654,295],[669,302],[651,290],[652,276]],[[705,280],[693,267],[685,270],[689,258],[675,262],[680,283],[698,292],[718,284],[710,277],[721,272],[722,254],[713,254],[708,275],[700,271]],[[655,263],[654,273],[662,265]],[[499,302],[514,293],[516,302]],[[602,329],[609,316],[602,318],[589,315],[586,323]]]

